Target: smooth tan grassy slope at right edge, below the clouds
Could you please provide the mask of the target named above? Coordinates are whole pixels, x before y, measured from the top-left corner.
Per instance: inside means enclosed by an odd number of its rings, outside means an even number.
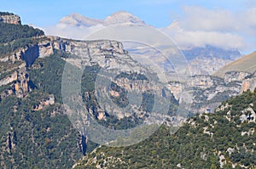
[[[255,62],[256,52],[243,56],[241,59],[237,59],[229,65],[225,65],[224,67],[213,73],[213,75],[224,77],[224,74],[228,71],[247,71],[250,73],[254,73],[254,71],[256,70]]]

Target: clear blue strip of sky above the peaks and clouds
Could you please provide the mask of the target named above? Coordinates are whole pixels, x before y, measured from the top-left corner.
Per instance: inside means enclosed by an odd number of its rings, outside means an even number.
[[[184,6],[239,11],[253,2],[253,0],[11,0],[2,1],[0,10],[19,14],[24,24],[38,26],[55,25],[63,16],[74,12],[91,18],[104,19],[109,14],[125,10],[137,15],[148,25],[164,27],[170,25],[172,20],[183,17]]]

